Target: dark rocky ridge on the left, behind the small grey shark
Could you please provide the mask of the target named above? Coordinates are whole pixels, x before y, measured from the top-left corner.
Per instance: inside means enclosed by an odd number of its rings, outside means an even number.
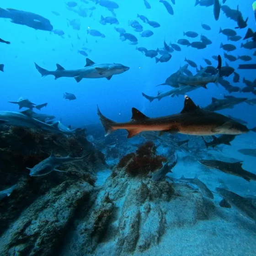
[[[59,167],[63,172],[30,177],[49,157],[88,155]],[[84,131],[65,137],[41,130],[11,127],[0,131],[0,191],[16,184],[0,201],[1,255],[52,255],[77,209],[97,190],[96,173],[106,168],[104,155],[86,140]]]

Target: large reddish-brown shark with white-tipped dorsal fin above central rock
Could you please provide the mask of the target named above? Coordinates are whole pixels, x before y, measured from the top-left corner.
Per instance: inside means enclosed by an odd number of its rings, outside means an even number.
[[[128,138],[145,131],[201,136],[215,134],[238,135],[249,132],[245,125],[229,117],[201,109],[188,96],[185,96],[184,107],[180,113],[165,117],[150,118],[133,107],[131,121],[116,123],[103,116],[99,107],[97,113],[105,129],[105,136],[119,129],[126,129]]]

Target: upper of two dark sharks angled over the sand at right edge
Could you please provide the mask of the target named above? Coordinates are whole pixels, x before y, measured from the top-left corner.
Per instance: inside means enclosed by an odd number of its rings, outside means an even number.
[[[243,161],[235,162],[235,163],[228,163],[219,160],[199,160],[199,163],[212,169],[216,169],[219,171],[223,171],[224,173],[231,174],[234,176],[241,177],[245,179],[245,181],[256,181],[256,174],[245,171],[242,168]]]

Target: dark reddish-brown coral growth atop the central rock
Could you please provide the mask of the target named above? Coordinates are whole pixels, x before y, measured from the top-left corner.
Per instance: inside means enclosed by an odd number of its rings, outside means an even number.
[[[160,169],[167,159],[161,155],[156,155],[155,144],[151,141],[141,145],[136,153],[130,153],[123,156],[119,161],[117,168],[124,168],[131,176],[147,175],[150,171]]]

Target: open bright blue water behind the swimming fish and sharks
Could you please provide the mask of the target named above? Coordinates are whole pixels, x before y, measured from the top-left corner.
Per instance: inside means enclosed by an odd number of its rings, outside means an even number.
[[[97,104],[104,115],[116,121],[128,121],[131,117],[132,107],[137,107],[150,117],[181,111],[182,96],[167,97],[161,101],[149,103],[142,97],[141,93],[155,96],[158,90],[171,90],[170,86],[155,87],[155,85],[163,83],[169,75],[179,69],[180,65],[186,64],[184,62],[185,57],[195,61],[198,66],[200,64],[206,65],[203,58],[208,58],[213,62],[213,65],[217,65],[211,56],[218,54],[223,56],[223,49],[220,49],[219,45],[228,42],[226,36],[219,34],[219,28],[234,29],[236,22],[228,19],[222,11],[219,21],[215,21],[213,6],[194,7],[194,0],[176,0],[176,5],[173,6],[173,16],[165,10],[162,3],[156,0],[149,0],[152,6],[150,10],[145,8],[143,0],[116,0],[116,2],[119,8],[115,12],[120,25],[105,26],[99,23],[101,15],[104,17],[112,16],[111,12],[91,1],[88,5],[77,1],[78,5],[85,7],[96,6],[91,18],[82,18],[76,13],[68,11],[64,0],[8,0],[1,3],[1,8],[30,11],[48,18],[54,29],[61,29],[65,32],[65,38],[50,32],[16,25],[11,23],[9,19],[0,18],[0,37],[11,41],[11,45],[0,44],[0,63],[5,64],[5,72],[0,74],[0,110],[18,111],[17,105],[7,101],[16,101],[22,96],[37,104],[48,102],[48,107],[43,108],[41,112],[54,114],[56,117],[62,118],[65,124],[72,126],[98,123]],[[244,18],[249,16],[248,27],[255,30],[252,2],[252,0],[227,0],[226,5],[235,9],[239,4]],[[60,16],[55,16],[52,11],[59,12]],[[134,32],[133,28],[128,26],[128,21],[137,19],[138,13],[161,24],[161,27],[153,28],[138,19],[144,29],[150,29],[154,32],[152,37],[142,38],[138,32]],[[73,30],[72,27],[68,26],[67,19],[80,21],[80,31]],[[212,30],[203,30],[201,22],[210,25]],[[147,58],[136,51],[136,46],[128,44],[128,41],[121,42],[119,34],[114,29],[115,26],[123,27],[127,32],[136,35],[139,39],[137,46],[148,49],[163,47],[164,39],[168,43],[170,41],[175,43],[180,38],[187,38],[190,41],[200,40],[199,37],[195,39],[184,37],[183,31],[195,31],[199,35],[203,34],[210,38],[213,44],[203,50],[181,46],[182,51],[174,52],[168,63],[155,64],[155,59]],[[87,35],[87,27],[99,30],[106,35],[106,38]],[[247,28],[236,31],[244,37]],[[79,35],[80,40],[77,39],[77,35]],[[88,43],[86,43],[86,39]],[[245,41],[240,40],[235,43],[238,49],[230,54],[252,56],[254,50],[240,48],[241,42]],[[92,49],[91,53],[88,53],[88,58],[96,63],[122,63],[129,66],[130,69],[121,75],[114,75],[109,81],[107,79],[83,79],[80,83],[76,83],[73,78],[54,80],[53,76],[41,79],[41,75],[35,69],[34,62],[49,70],[55,70],[56,63],[61,64],[65,69],[80,68],[85,65],[85,57],[77,53],[77,50],[83,46]],[[231,65],[237,68],[240,63],[243,62],[238,60]],[[195,72],[195,69],[190,69]],[[255,71],[236,71],[241,75],[241,80],[243,76],[249,80],[256,78]],[[232,79],[233,75],[229,78],[230,82]],[[241,82],[235,85],[244,86]],[[64,92],[74,93],[77,100],[64,100]],[[196,104],[205,106],[211,102],[212,96],[222,98],[224,94],[227,95],[228,92],[221,85],[217,87],[214,84],[209,84],[208,90],[200,88],[188,95]],[[232,95],[254,97],[251,93],[234,93]],[[244,118],[249,121],[249,127],[256,125],[255,118],[253,118],[255,117],[254,108],[245,103],[236,106],[233,110],[224,110],[222,113]]]

